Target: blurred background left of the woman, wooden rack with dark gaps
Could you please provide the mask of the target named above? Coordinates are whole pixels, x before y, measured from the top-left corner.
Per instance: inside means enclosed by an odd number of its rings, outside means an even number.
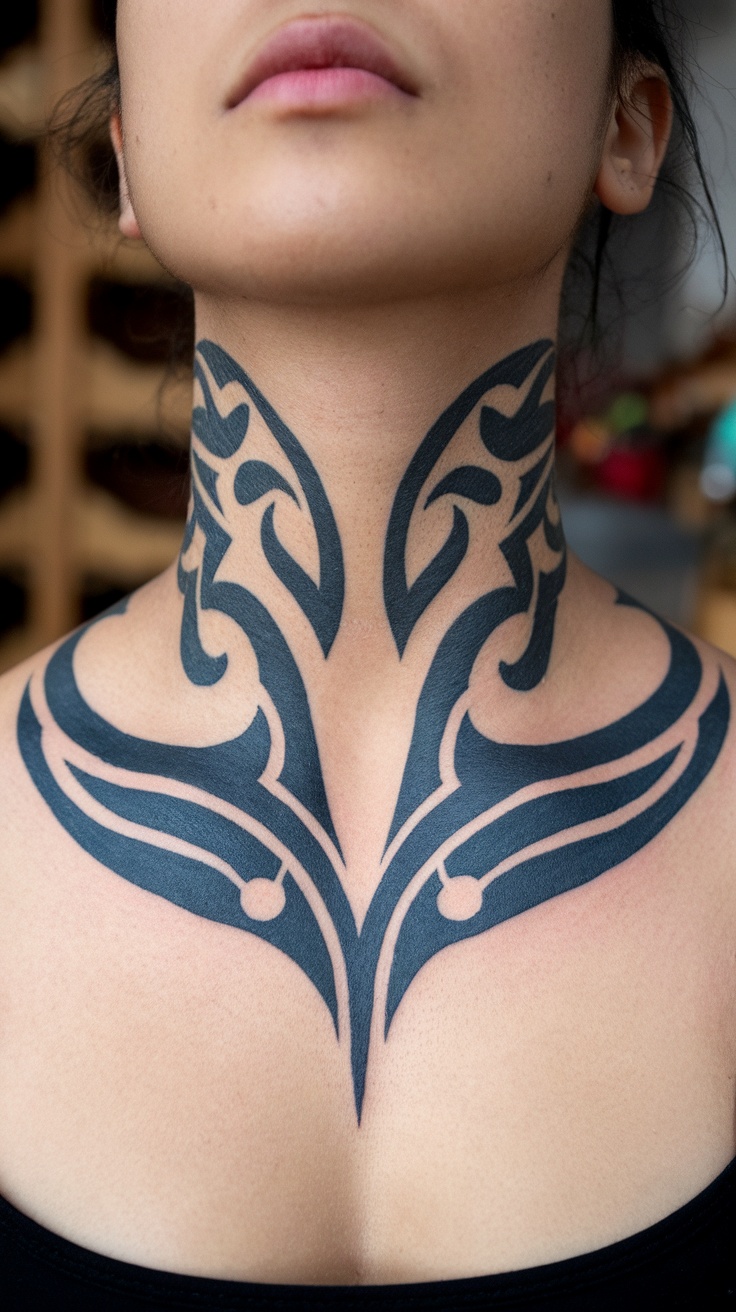
[[[181,293],[43,139],[104,29],[92,0],[0,17],[0,669],[165,568],[186,510]]]

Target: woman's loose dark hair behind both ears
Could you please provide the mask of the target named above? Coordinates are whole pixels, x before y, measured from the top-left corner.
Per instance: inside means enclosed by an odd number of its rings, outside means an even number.
[[[728,287],[728,257],[718,211],[701,154],[698,129],[690,108],[693,75],[690,64],[691,30],[677,0],[611,0],[614,50],[611,59],[611,93],[621,92],[626,76],[638,60],[651,62],[664,72],[674,109],[673,138],[665,165],[657,181],[655,198],[680,206],[685,230],[690,237],[685,243],[682,269],[697,249],[701,226],[705,220],[715,236],[723,268],[723,295]],[[96,20],[110,43],[109,66],[98,76],[89,79],[64,97],[50,125],[51,138],[67,167],[81,181],[88,194],[108,213],[118,205],[117,167],[112,154],[108,122],[119,101],[119,72],[115,56],[117,0],[94,0]],[[655,203],[655,224],[656,210]],[[601,340],[601,302],[621,279],[617,270],[617,230],[626,234],[631,224],[642,226],[643,216],[621,219],[603,206],[594,206],[581,224],[579,240],[571,260],[565,285],[567,308],[563,323],[577,319],[573,336],[579,344],[588,341],[596,349]],[[649,222],[652,219],[649,218]],[[672,243],[669,243],[672,245]],[[661,244],[657,243],[661,255]],[[624,257],[624,252],[622,252]],[[669,256],[669,251],[668,251]],[[624,262],[624,258],[623,258]],[[665,272],[665,282],[672,282],[672,270]],[[586,286],[586,291],[583,290]],[[663,287],[660,287],[660,291]],[[606,324],[607,327],[607,324]],[[563,335],[564,336],[564,335]],[[568,331],[567,336],[571,333]]]

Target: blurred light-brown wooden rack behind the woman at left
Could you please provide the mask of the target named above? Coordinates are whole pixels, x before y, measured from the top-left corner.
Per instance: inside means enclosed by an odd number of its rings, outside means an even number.
[[[0,218],[0,276],[28,279],[34,306],[30,337],[0,356],[0,425],[30,446],[29,479],[0,501],[0,575],[21,577],[28,596],[25,623],[0,640],[0,669],[80,621],[87,577],[138,586],[181,539],[178,521],[136,512],[84,475],[92,432],[98,445],[164,430],[185,446],[190,407],[186,379],[167,382],[160,365],[131,361],[87,325],[92,278],[171,283],[142,245],[89,213],[42,138],[49,110],[101,58],[88,0],[43,0],[38,38],[0,66],[1,126],[39,154],[34,193]]]

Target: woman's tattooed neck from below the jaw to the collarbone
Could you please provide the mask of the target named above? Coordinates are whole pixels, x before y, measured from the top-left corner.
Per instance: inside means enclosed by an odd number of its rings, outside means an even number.
[[[550,661],[565,581],[554,345],[547,323],[512,331],[510,316],[479,345],[478,308],[462,331],[445,323],[442,348],[426,312],[424,340],[408,312],[384,315],[380,340],[363,312],[362,342],[348,316],[291,314],[291,340],[265,312],[257,333],[257,315],[245,329],[199,316],[185,670],[205,686],[232,674],[235,623],[274,723],[314,732],[344,848],[350,832],[365,846],[369,781],[386,841],[422,718],[440,747],[471,680],[516,702]],[[299,733],[290,745],[307,750]]]

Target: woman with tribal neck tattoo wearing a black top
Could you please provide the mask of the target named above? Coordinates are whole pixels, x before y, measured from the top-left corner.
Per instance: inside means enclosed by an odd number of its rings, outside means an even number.
[[[3,684],[10,1305],[720,1305],[733,666],[568,559],[552,483],[576,234],[668,146],[655,13],[117,25],[193,496]]]

